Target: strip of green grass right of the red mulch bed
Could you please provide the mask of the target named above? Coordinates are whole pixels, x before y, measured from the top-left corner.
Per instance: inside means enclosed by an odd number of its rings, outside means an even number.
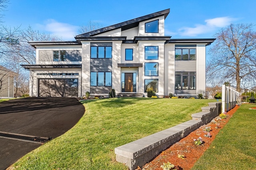
[[[218,133],[192,170],[256,170],[256,107],[244,104]]]

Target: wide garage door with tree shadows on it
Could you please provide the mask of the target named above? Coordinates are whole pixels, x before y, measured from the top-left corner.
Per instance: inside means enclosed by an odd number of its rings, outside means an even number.
[[[38,79],[38,97],[78,97],[78,79]]]

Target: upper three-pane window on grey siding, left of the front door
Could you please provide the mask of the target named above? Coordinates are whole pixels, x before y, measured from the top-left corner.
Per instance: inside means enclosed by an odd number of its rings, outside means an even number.
[[[111,59],[112,47],[91,46],[91,59]]]

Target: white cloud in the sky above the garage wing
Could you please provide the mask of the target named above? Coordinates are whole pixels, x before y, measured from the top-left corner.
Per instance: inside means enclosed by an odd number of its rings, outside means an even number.
[[[74,36],[78,35],[78,26],[68,23],[61,23],[53,19],[46,20],[44,24],[37,24],[42,31],[47,31],[51,35],[57,35],[63,40],[74,40]]]

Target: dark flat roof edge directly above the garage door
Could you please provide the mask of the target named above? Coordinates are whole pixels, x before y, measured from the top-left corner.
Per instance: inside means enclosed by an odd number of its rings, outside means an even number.
[[[30,68],[82,68],[82,64],[22,64],[25,69]]]

